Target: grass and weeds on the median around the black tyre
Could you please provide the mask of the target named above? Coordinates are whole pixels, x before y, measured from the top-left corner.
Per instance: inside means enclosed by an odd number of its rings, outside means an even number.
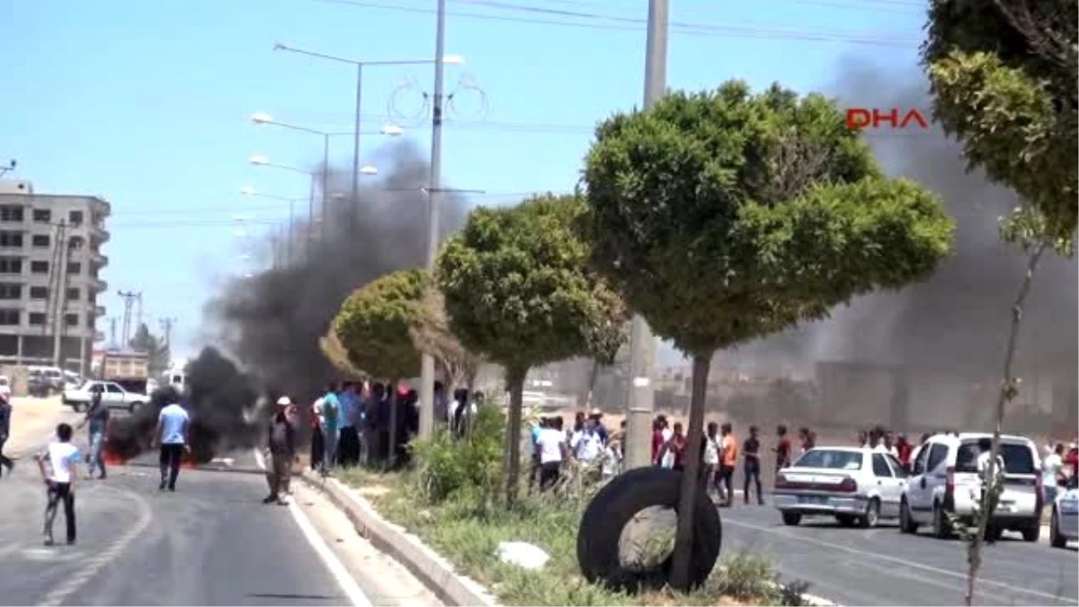
[[[769,562],[728,557],[705,588],[689,595],[669,590],[638,596],[588,583],[576,562],[577,528],[590,491],[568,483],[557,498],[527,496],[514,509],[497,501],[502,486],[502,414],[484,408],[467,440],[446,434],[414,448],[413,470],[374,473],[340,471],[387,520],[407,528],[488,588],[507,607],[800,607],[798,593],[784,592]],[[653,538],[642,551],[667,554],[673,536]],[[521,541],[550,555],[542,569],[502,563],[498,544]],[[655,545],[651,545],[654,543]],[[804,588],[801,590],[804,591]]]

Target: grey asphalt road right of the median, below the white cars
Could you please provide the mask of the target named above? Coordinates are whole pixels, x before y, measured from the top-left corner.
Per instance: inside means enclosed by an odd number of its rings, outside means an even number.
[[[810,583],[808,592],[846,607],[961,605],[966,589],[966,547],[904,536],[883,523],[876,529],[841,528],[834,522],[808,520],[787,527],[770,507],[735,505],[723,517],[723,554],[749,551],[771,557],[784,581]],[[1042,529],[1047,531],[1046,529]],[[1058,607],[1079,605],[1079,552],[1049,547],[1017,536],[985,550],[980,575],[980,605]]]

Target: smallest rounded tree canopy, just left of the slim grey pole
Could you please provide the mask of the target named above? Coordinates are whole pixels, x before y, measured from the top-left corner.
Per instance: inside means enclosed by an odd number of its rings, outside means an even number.
[[[367,283],[344,300],[331,331],[353,365],[386,379],[420,373],[420,352],[410,332],[419,322],[425,286],[423,270],[401,270]]]

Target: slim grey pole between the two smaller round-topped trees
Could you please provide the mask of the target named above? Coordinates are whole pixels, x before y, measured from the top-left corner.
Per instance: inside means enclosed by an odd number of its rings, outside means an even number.
[[[442,181],[442,82],[446,65],[446,0],[438,0],[435,25],[435,94],[431,121],[431,185],[427,190],[427,275],[434,275],[438,256],[438,206]],[[435,431],[435,359],[427,353],[420,364],[420,437]]]

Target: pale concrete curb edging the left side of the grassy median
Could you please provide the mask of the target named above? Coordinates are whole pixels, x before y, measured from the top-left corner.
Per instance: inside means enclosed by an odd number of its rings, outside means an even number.
[[[323,478],[311,471],[299,476],[340,509],[360,536],[404,565],[448,607],[498,607],[498,602],[481,584],[456,574],[446,558],[405,527],[383,518],[370,502],[337,478]]]

